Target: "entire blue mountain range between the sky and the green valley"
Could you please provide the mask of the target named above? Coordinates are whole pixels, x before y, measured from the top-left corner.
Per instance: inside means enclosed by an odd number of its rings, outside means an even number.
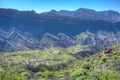
[[[0,52],[90,45],[96,50],[120,44],[116,11],[35,11],[0,9]]]

